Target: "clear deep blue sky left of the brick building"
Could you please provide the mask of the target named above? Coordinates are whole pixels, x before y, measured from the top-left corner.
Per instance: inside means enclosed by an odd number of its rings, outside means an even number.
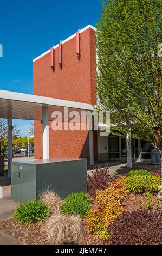
[[[1,0],[0,89],[33,94],[32,60],[77,29],[95,26],[101,11],[101,0]],[[18,123],[25,136],[29,121]]]

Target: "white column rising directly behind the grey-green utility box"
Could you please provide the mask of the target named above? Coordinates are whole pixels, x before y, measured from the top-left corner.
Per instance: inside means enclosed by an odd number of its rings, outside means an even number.
[[[49,114],[48,107],[42,108],[43,159],[49,159]]]

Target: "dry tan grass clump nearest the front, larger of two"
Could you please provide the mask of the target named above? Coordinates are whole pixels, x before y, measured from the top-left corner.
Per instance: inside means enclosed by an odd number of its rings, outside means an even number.
[[[78,238],[83,233],[81,218],[68,215],[51,215],[42,226],[49,245],[60,245],[70,238]]]

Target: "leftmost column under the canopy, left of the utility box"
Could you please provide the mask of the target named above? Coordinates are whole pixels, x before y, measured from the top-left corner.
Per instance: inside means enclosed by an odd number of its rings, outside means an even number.
[[[8,178],[11,178],[12,162],[12,118],[8,117]]]

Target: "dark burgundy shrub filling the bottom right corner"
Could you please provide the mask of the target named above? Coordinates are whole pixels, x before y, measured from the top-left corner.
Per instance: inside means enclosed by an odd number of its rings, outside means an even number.
[[[160,245],[162,212],[153,210],[123,212],[108,227],[108,233],[112,245]]]

